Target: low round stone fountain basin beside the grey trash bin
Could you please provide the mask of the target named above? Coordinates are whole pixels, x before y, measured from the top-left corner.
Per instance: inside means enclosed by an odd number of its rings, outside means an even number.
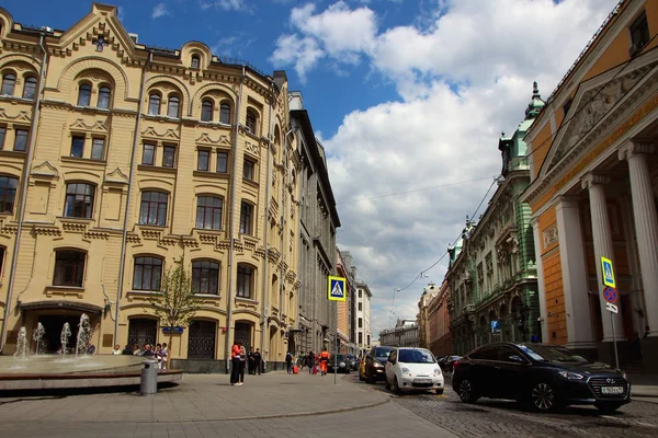
[[[136,385],[145,359],[127,355],[43,355],[24,360],[0,356],[0,391]],[[158,383],[182,377],[181,370],[160,370]]]

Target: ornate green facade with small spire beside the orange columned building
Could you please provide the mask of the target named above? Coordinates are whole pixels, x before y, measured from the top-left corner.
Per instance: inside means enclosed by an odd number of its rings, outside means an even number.
[[[458,355],[496,341],[530,342],[540,336],[530,207],[520,196],[530,184],[523,139],[543,106],[535,83],[525,120],[512,137],[503,134],[499,140],[502,172],[487,210],[477,224],[467,221],[458,245],[449,249],[445,281]]]

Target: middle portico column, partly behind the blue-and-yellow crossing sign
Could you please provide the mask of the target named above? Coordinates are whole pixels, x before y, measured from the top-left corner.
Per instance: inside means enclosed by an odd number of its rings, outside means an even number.
[[[594,238],[594,264],[597,265],[597,284],[599,289],[599,303],[601,306],[601,322],[603,325],[603,342],[612,342],[612,323],[610,312],[605,309],[603,297],[603,275],[601,274],[601,257],[610,258],[614,266],[614,246],[612,244],[612,232],[610,230],[610,218],[608,217],[608,204],[605,201],[605,184],[610,178],[601,175],[589,174],[582,178],[582,188],[589,191],[590,215],[592,218],[592,234]],[[614,314],[615,334],[617,341],[625,339],[624,325],[622,321],[621,301],[615,306],[620,312]]]

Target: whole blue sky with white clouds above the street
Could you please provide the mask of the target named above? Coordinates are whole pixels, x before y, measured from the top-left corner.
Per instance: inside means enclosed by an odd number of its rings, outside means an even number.
[[[373,292],[377,338],[416,319],[423,287],[443,280],[447,245],[486,209],[498,138],[523,120],[532,82],[547,99],[617,0],[104,2],[139,43],[201,41],[286,71],[327,151],[337,243]],[[19,23],[66,30],[91,2],[2,7]]]

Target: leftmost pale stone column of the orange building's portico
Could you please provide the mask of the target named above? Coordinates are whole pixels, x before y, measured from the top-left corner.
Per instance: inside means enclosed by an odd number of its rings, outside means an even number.
[[[566,196],[560,197],[555,212],[557,216],[565,311],[567,313],[567,347],[575,349],[595,348],[578,199]]]

